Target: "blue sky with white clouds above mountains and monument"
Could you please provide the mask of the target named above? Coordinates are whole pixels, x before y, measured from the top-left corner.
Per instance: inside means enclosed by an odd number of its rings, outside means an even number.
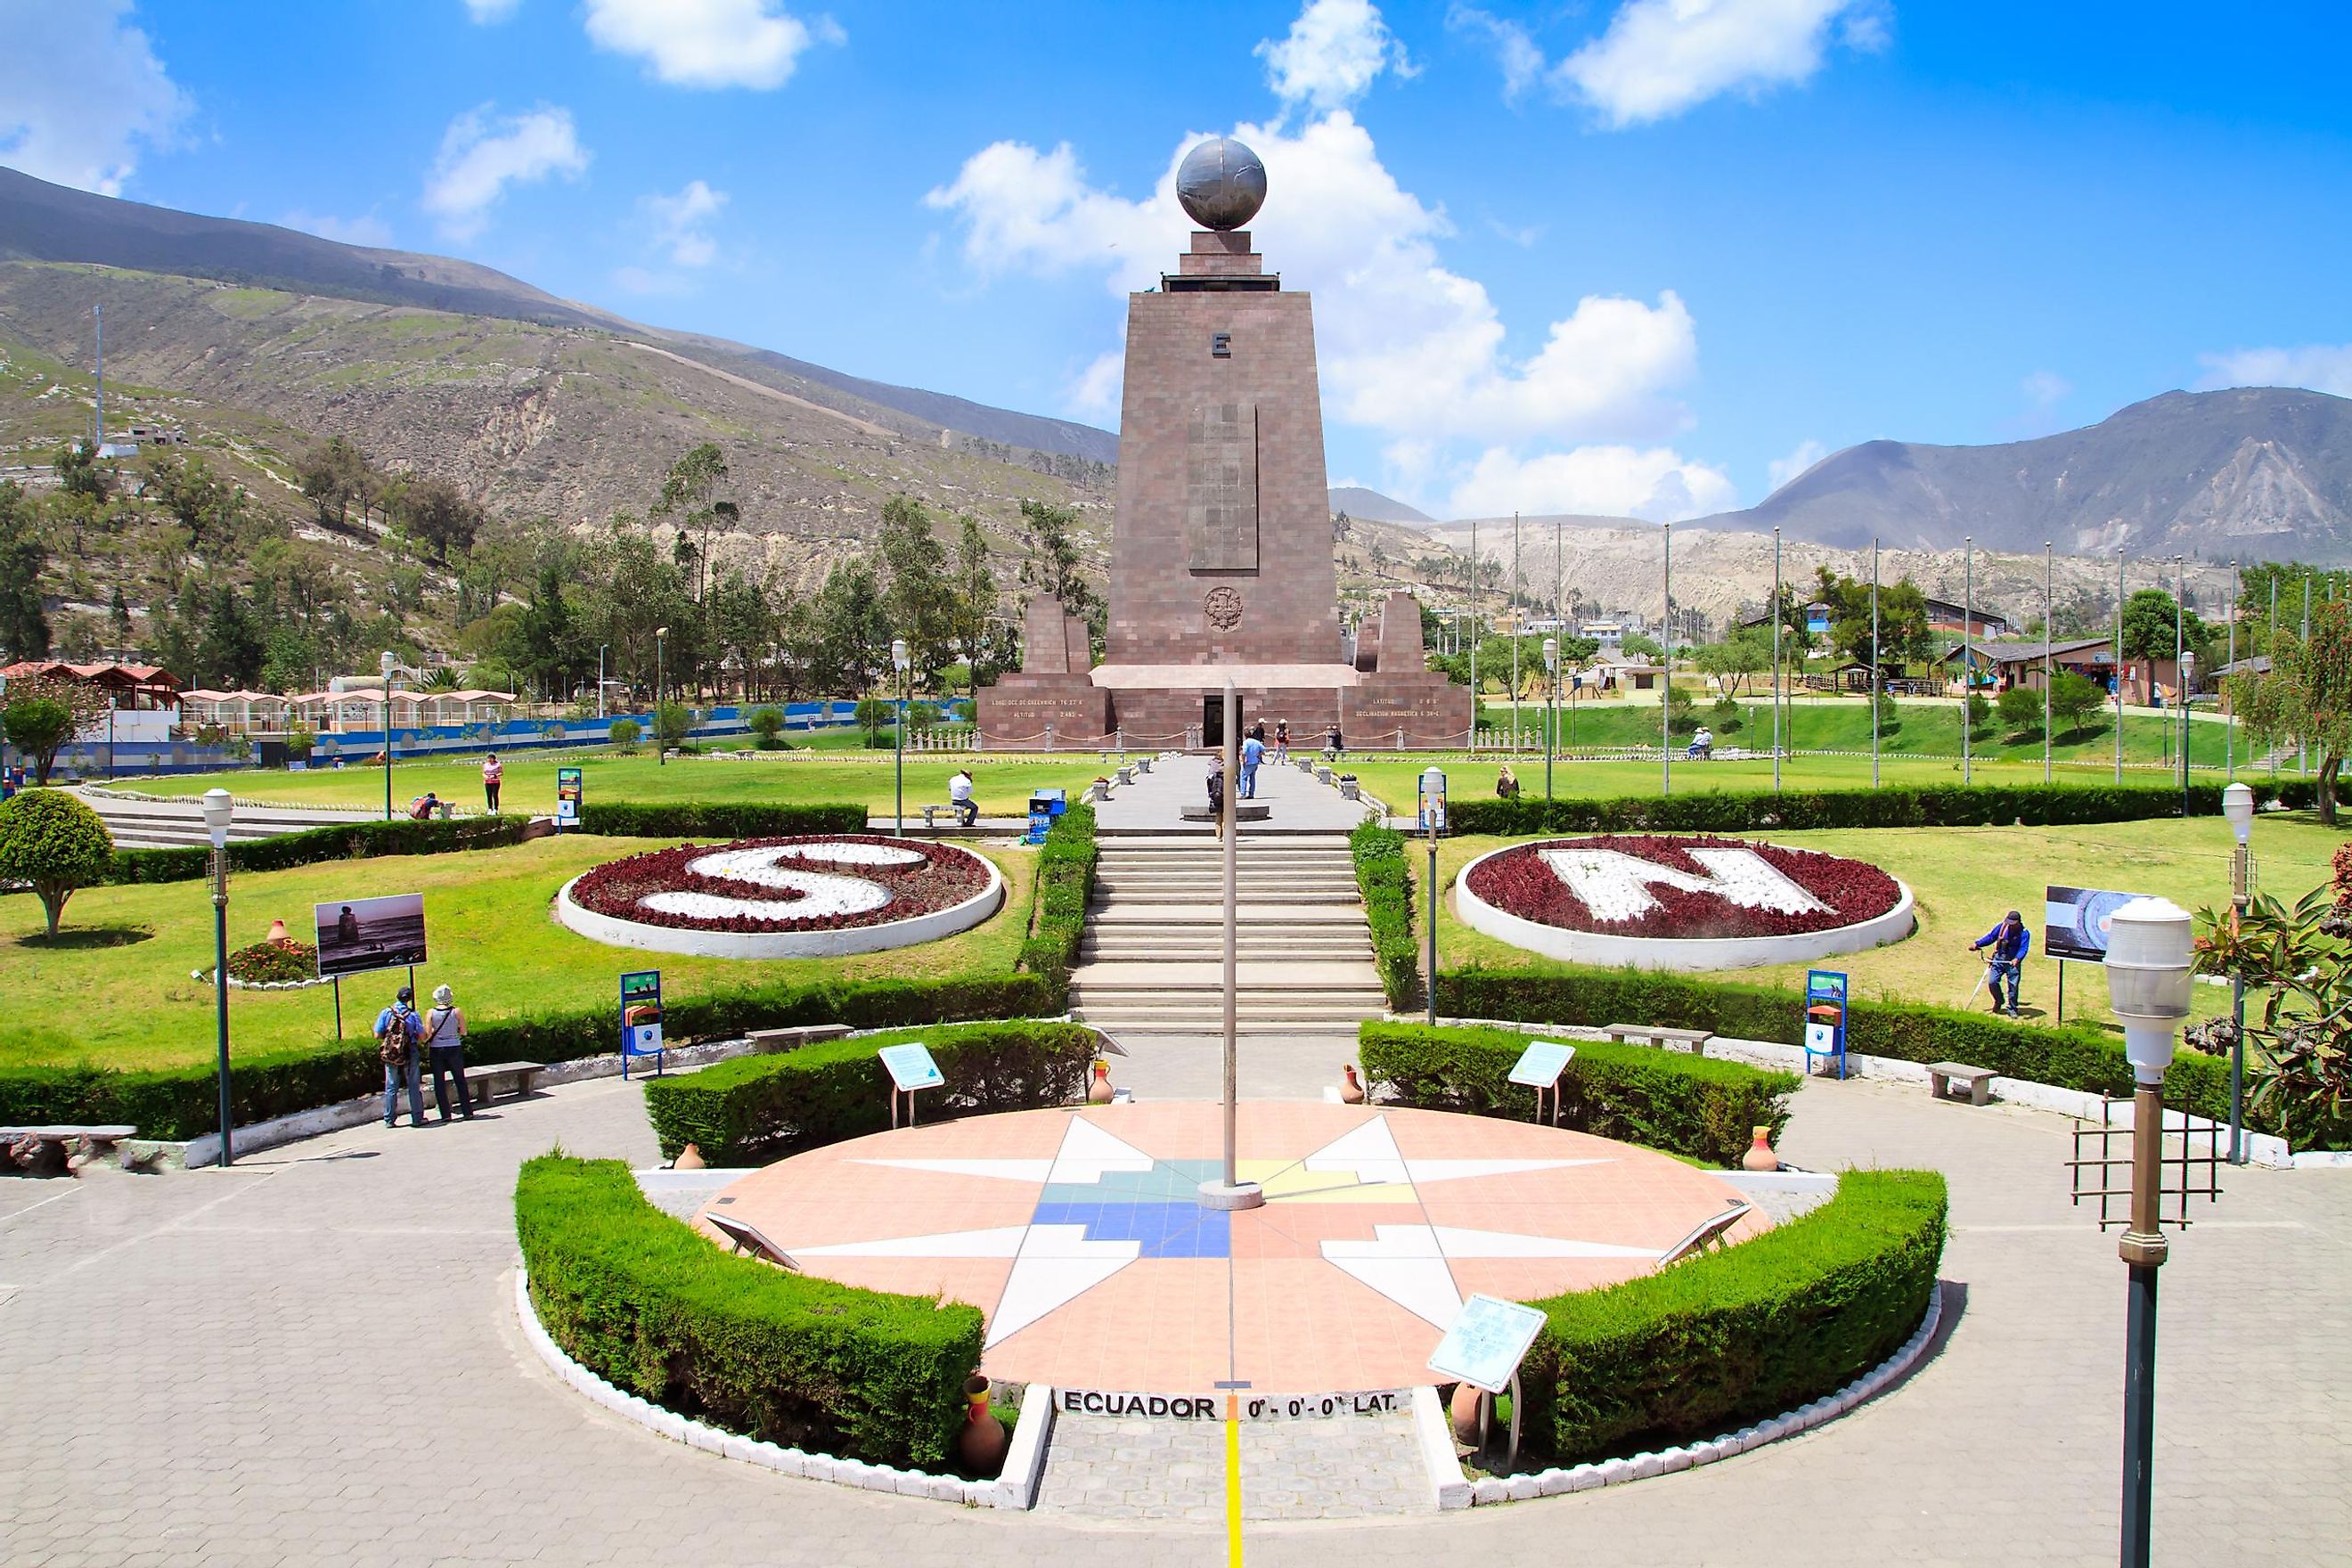
[[[1115,425],[1240,134],[1334,482],[1689,517],[1839,447],[2352,395],[2328,5],[0,0],[0,162]]]

